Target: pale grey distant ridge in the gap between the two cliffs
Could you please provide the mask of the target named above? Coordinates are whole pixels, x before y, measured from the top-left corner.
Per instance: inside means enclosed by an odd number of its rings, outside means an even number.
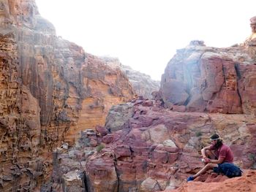
[[[118,58],[102,57],[102,59],[106,61],[108,65],[120,68],[121,71],[127,75],[129,82],[132,83],[132,87],[135,89],[138,96],[152,99],[151,93],[154,91],[159,91],[160,82],[157,80],[152,80],[148,74],[135,71],[130,66],[122,65]]]

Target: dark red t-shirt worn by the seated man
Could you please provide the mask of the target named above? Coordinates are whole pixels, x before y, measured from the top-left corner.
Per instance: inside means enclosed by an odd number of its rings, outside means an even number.
[[[215,150],[215,154],[217,158],[219,157],[224,158],[222,163],[224,162],[233,163],[234,155],[230,147],[228,147],[227,145],[222,144],[222,146],[219,147],[218,149],[216,149],[214,145],[211,145],[210,150]]]

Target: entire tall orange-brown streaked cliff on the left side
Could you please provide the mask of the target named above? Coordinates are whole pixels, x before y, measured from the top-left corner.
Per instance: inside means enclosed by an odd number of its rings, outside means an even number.
[[[134,93],[121,70],[56,37],[34,0],[1,1],[0,26],[0,191],[39,191],[52,151]]]

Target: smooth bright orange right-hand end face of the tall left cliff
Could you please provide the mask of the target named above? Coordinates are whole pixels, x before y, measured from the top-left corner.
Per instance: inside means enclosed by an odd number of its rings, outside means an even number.
[[[68,132],[78,138],[86,128],[104,126],[108,111],[114,104],[130,101],[134,91],[129,80],[120,69],[108,66],[94,55],[86,54],[86,62],[81,68],[82,98],[78,123]]]

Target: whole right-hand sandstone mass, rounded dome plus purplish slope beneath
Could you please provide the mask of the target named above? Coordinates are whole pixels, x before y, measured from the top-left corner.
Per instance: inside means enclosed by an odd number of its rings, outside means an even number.
[[[191,42],[167,65],[155,100],[139,97],[112,107],[105,127],[56,152],[60,163],[54,169],[65,176],[55,175],[53,186],[78,187],[74,180],[86,191],[170,191],[203,167],[200,150],[217,133],[244,176],[205,174],[197,180],[209,184],[189,183],[178,191],[216,185],[211,181],[226,191],[253,187],[255,172],[246,169],[256,166],[255,70],[246,47]]]

